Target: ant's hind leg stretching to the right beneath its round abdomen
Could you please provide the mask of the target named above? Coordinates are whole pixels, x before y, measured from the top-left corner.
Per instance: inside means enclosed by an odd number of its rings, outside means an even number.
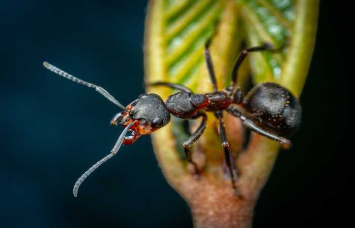
[[[254,122],[252,120],[245,117],[242,114],[242,112],[240,110],[238,110],[236,107],[229,107],[229,108],[227,108],[227,111],[228,111],[228,113],[230,113],[234,117],[239,118],[243,122],[243,124],[246,127],[250,128],[252,131],[254,131],[260,135],[263,135],[265,137],[268,137],[269,139],[272,139],[274,141],[281,143],[283,145],[283,147],[285,147],[285,148],[291,147],[291,141],[289,139],[280,137],[278,135],[272,134],[270,132],[267,132],[267,131],[261,129],[259,126],[254,124]]]

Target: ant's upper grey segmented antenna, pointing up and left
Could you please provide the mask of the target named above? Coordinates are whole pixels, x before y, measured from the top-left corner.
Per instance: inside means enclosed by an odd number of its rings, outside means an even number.
[[[107,99],[109,99],[112,103],[116,104],[117,106],[119,106],[119,107],[122,108],[123,110],[126,109],[125,106],[123,106],[120,102],[118,102],[109,92],[107,92],[107,91],[104,90],[103,88],[101,88],[101,87],[99,87],[99,86],[96,86],[96,85],[94,85],[94,84],[85,82],[85,81],[83,81],[83,80],[81,80],[81,79],[78,79],[78,78],[74,77],[72,74],[68,74],[67,72],[65,72],[65,71],[63,71],[63,70],[57,68],[56,66],[53,66],[52,64],[50,64],[50,63],[48,63],[48,62],[43,62],[43,65],[44,65],[47,69],[49,69],[49,70],[51,70],[51,71],[53,71],[53,72],[55,72],[55,73],[57,73],[57,74],[63,76],[64,78],[67,78],[67,79],[69,79],[69,80],[72,80],[73,82],[82,84],[82,85],[87,86],[87,87],[90,87],[90,88],[95,88],[95,90],[96,90],[97,92],[99,92],[99,93],[102,94],[104,97],[106,97]]]

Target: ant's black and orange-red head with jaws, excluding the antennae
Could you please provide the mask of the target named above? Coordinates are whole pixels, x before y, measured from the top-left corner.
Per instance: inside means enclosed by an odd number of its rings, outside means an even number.
[[[124,111],[117,113],[112,125],[124,127],[133,123],[131,130],[136,135],[147,135],[170,122],[170,113],[163,100],[157,94],[141,94]]]

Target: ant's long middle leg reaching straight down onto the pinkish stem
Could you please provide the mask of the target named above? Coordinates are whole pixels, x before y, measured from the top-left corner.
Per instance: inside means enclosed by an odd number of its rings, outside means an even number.
[[[220,138],[222,141],[222,147],[224,148],[224,158],[226,161],[226,164],[229,169],[229,174],[231,177],[231,182],[232,182],[232,187],[234,190],[234,193],[236,196],[240,197],[240,194],[237,191],[237,188],[235,186],[235,180],[237,177],[234,177],[234,172],[236,170],[233,170],[232,164],[231,164],[231,154],[229,151],[229,143],[227,140],[227,135],[226,135],[226,127],[224,126],[224,121],[223,121],[223,112],[222,111],[216,111],[215,116],[218,118],[219,121],[219,132],[220,132]]]

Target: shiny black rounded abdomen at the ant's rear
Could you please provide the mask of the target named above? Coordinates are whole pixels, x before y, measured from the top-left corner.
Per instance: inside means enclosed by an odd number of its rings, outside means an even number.
[[[301,124],[301,104],[286,88],[275,83],[255,86],[242,103],[255,124],[275,133],[289,137]]]

